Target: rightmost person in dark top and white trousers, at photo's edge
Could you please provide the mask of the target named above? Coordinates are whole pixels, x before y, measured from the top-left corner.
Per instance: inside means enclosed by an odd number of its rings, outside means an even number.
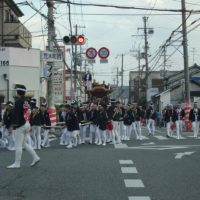
[[[198,108],[198,103],[197,102],[194,102],[194,106],[190,110],[189,120],[192,122],[192,129],[193,129],[193,133],[194,133],[194,138],[198,138],[199,121],[200,121],[200,109]]]

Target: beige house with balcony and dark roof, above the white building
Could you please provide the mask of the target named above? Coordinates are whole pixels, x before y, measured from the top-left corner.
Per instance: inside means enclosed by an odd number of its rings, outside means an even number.
[[[24,14],[13,0],[0,1],[0,46],[32,47],[32,36],[19,21]]]

